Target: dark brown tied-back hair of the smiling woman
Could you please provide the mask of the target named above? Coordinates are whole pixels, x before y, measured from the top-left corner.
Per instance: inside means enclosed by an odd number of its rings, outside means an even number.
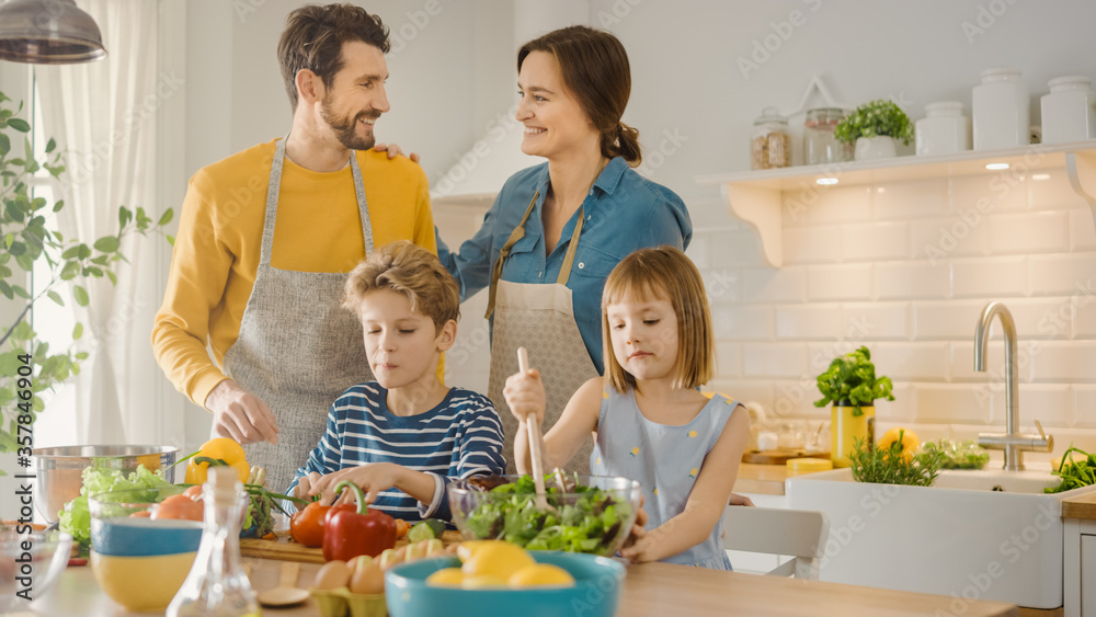
[[[620,122],[631,95],[628,53],[620,41],[605,31],[584,25],[555,30],[522,45],[517,52],[518,72],[533,52],[546,52],[556,57],[563,85],[602,135],[602,156],[623,157],[629,165],[639,165],[643,160],[639,130]]]

